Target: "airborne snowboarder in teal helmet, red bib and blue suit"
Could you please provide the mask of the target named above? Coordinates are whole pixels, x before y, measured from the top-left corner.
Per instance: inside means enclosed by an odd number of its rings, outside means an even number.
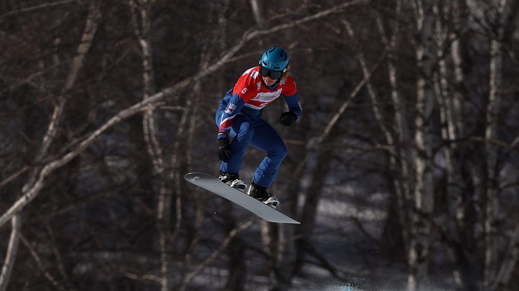
[[[247,185],[239,179],[239,170],[247,146],[267,153],[254,172],[247,194],[276,208],[278,199],[267,188],[272,184],[287,150],[276,130],[262,119],[263,108],[284,96],[289,111],[281,113],[279,122],[293,125],[301,117],[301,105],[294,79],[290,77],[289,55],[277,47],[263,53],[260,65],[246,70],[220,101],[216,111],[218,158],[222,160],[218,179],[245,192]],[[234,137],[230,141],[229,136]]]

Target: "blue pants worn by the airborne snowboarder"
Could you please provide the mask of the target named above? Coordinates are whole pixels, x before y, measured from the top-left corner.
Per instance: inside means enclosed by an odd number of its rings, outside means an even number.
[[[220,126],[224,111],[225,106],[223,105],[216,111],[216,126]],[[251,120],[249,117],[238,113],[233,120],[230,136],[234,137],[230,143],[231,154],[226,161],[222,162],[220,170],[238,174],[245,150],[251,144],[267,153],[263,162],[254,172],[252,181],[258,186],[270,187],[287,153],[285,143],[276,129],[261,118]]]

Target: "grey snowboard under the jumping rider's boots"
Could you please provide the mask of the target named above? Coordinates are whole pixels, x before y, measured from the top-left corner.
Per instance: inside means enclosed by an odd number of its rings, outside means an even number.
[[[237,205],[249,210],[250,212],[260,216],[268,222],[275,223],[293,223],[301,224],[291,219],[289,216],[277,211],[276,209],[256,200],[249,195],[236,190],[235,188],[222,183],[216,177],[206,173],[188,173],[184,176],[188,182],[204,188],[214,194],[220,195],[225,199],[236,203]]]

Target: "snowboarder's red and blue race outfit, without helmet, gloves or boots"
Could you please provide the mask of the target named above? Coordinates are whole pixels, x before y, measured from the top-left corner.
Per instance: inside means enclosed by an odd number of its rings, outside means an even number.
[[[222,162],[220,171],[238,175],[245,150],[251,144],[267,153],[252,181],[268,188],[287,151],[276,130],[262,119],[263,108],[284,96],[289,110],[297,114],[296,120],[301,117],[302,109],[292,77],[266,86],[259,70],[257,66],[245,71],[234,88],[225,94],[216,111],[216,125],[220,128],[218,139],[235,137],[230,143],[231,154]]]

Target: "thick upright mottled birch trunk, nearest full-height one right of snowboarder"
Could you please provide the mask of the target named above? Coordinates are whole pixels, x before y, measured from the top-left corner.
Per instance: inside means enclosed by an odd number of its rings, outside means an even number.
[[[431,215],[434,209],[434,181],[432,173],[431,117],[434,104],[432,86],[433,56],[433,2],[418,0],[413,2],[416,25],[416,188],[411,220],[411,236],[407,264],[407,290],[420,288],[426,278],[429,264],[429,239]]]

